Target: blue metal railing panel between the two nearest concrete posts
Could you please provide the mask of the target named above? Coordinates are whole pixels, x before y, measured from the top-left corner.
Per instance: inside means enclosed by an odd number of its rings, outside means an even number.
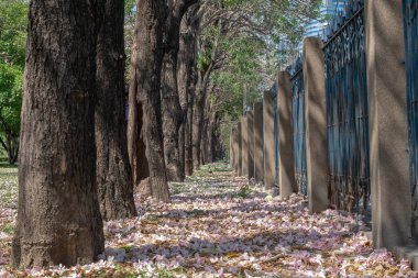
[[[364,0],[351,1],[327,30],[329,199],[336,209],[370,210]]]

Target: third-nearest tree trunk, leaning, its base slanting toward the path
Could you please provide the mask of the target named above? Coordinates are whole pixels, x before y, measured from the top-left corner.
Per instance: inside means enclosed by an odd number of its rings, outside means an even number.
[[[163,62],[163,30],[165,27],[165,1],[138,1],[138,101],[142,103],[144,141],[150,169],[152,196],[158,201],[169,201],[165,170],[161,112],[161,73]]]

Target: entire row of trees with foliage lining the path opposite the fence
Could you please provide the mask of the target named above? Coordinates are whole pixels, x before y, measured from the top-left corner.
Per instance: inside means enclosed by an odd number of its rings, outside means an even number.
[[[169,201],[167,181],[222,153],[228,124],[267,87],[277,55],[296,48],[317,7],[32,0],[13,264],[95,260],[105,245],[102,220],[136,214],[133,185]],[[124,20],[132,10],[127,133]]]

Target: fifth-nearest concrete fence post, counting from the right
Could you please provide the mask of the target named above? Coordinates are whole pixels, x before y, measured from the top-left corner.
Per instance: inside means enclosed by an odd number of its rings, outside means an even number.
[[[254,179],[262,182],[264,178],[263,155],[263,102],[254,104]]]

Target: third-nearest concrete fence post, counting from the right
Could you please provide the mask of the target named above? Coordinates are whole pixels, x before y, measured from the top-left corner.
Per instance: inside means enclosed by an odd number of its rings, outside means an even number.
[[[278,108],[278,186],[282,199],[287,199],[297,192],[295,179],[294,138],[292,125],[292,86],[287,71],[277,76],[277,108]]]

